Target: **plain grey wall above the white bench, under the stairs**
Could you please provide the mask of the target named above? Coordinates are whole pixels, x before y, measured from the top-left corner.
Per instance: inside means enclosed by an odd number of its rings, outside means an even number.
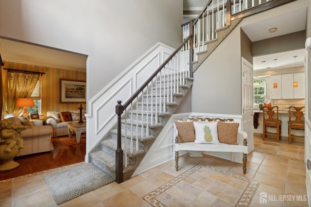
[[[236,27],[193,73],[192,112],[242,114],[240,48]]]

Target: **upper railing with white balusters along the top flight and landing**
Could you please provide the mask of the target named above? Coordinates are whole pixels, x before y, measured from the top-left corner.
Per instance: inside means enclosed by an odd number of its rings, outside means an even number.
[[[190,23],[193,25],[193,60],[197,60],[197,52],[207,49],[208,41],[217,38],[217,29],[229,26],[234,19],[251,16],[290,1],[294,0],[208,0],[198,17],[182,25],[184,39],[190,35]]]

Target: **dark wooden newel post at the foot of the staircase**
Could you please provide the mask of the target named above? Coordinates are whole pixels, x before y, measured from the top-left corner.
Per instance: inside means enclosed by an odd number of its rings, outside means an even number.
[[[118,143],[116,150],[116,182],[123,182],[123,150],[121,147],[121,115],[123,113],[123,106],[121,101],[116,105],[116,114],[118,115]]]

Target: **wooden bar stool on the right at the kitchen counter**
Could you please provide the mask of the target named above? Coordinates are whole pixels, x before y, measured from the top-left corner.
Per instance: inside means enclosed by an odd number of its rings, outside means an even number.
[[[292,138],[305,138],[305,136],[298,136],[292,134],[292,129],[295,130],[305,130],[305,121],[301,121],[303,112],[301,111],[304,106],[295,107],[290,106],[289,109],[289,121],[288,121],[288,142],[292,144]],[[292,120],[292,113],[294,114],[295,120]]]

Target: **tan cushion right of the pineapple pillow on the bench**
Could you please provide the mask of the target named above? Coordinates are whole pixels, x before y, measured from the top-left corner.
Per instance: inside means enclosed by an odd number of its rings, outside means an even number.
[[[218,122],[218,139],[221,143],[238,144],[239,123]]]

